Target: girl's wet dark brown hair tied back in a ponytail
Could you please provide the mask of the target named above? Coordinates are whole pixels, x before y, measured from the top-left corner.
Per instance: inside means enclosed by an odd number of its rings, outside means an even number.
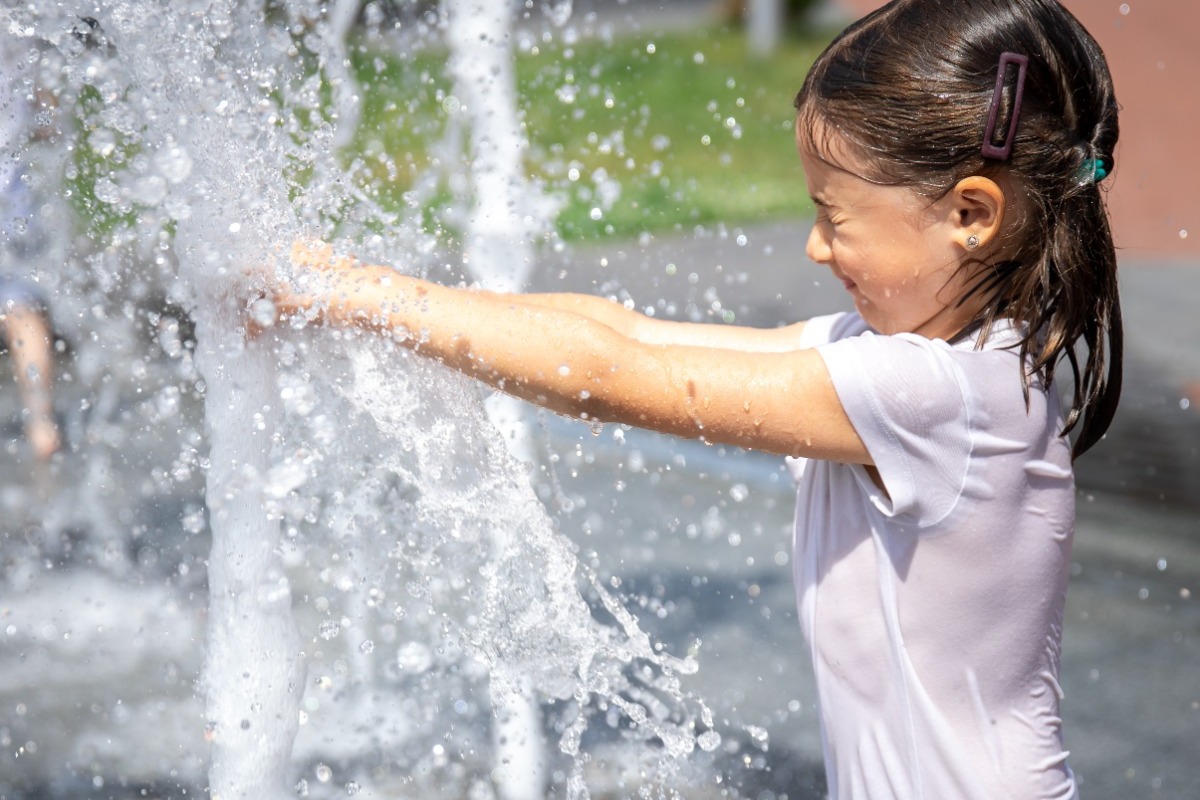
[[[1012,155],[982,154],[1000,56],[1028,58]],[[1016,94],[1008,70],[1006,132]],[[1063,434],[1081,423],[1073,456],[1096,444],[1121,395],[1116,252],[1098,161],[1112,172],[1117,103],[1104,54],[1055,0],[894,0],[847,28],[796,97],[798,133],[814,152],[838,136],[869,164],[866,180],[936,200],[984,175],[1009,193],[1002,260],[976,261],[968,293],[986,297],[972,325],[1024,325],[1030,380],[1054,383],[1066,360],[1074,393]],[[964,297],[965,300],[965,297]],[[1082,341],[1086,357],[1078,349]],[[1082,361],[1082,363],[1081,363]]]

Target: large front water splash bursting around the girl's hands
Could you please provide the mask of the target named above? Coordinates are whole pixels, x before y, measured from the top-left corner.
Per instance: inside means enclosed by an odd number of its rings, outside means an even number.
[[[668,774],[712,727],[679,685],[695,663],[661,654],[581,569],[476,390],[388,341],[245,338],[256,276],[301,231],[414,271],[443,255],[415,211],[346,180],[337,122],[350,106],[326,91],[346,89],[330,67],[344,66],[343,29],[316,0],[94,5],[101,47],[80,48],[52,12],[13,19],[56,42],[65,90],[95,98],[79,145],[102,164],[112,227],[90,259],[104,279],[89,278],[80,306],[120,305],[140,282],[196,324],[212,795],[283,796],[310,770],[383,787],[445,768],[431,741],[463,760],[486,751],[455,715],[529,685],[558,702],[571,796],[587,796],[598,711]],[[490,174],[511,170],[502,158]],[[404,766],[380,771],[380,751]]]

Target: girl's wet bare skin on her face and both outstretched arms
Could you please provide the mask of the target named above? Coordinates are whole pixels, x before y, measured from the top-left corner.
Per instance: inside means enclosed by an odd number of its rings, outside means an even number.
[[[839,163],[850,163],[844,156]],[[864,318],[886,333],[959,330],[964,314],[973,314],[954,302],[962,242],[972,233],[986,241],[998,229],[996,185],[967,179],[929,204],[828,158],[803,150],[800,157],[821,209],[809,255],[844,281]],[[550,410],[710,444],[871,463],[820,354],[799,347],[803,323],[696,325],[586,295],[443,287],[336,257],[322,242],[299,242],[292,263],[295,279],[272,290],[281,314],[394,336]]]

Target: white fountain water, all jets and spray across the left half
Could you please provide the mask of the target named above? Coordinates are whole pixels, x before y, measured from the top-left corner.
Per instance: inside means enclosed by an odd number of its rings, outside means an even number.
[[[62,470],[100,495],[79,495],[76,512],[86,519],[73,528],[71,510],[58,511],[58,529],[76,531],[74,547],[92,553],[95,567],[88,577],[64,571],[62,585],[90,585],[95,628],[72,622],[70,608],[56,622],[28,625],[41,619],[37,603],[46,612],[54,602],[47,584],[25,594],[40,599],[29,607],[10,606],[7,636],[49,664],[70,648],[95,651],[106,626],[127,624],[140,644],[124,655],[164,658],[180,699],[115,698],[108,722],[188,721],[149,758],[65,744],[61,786],[98,787],[122,771],[137,782],[157,770],[181,784],[199,772],[224,800],[487,796],[493,787],[530,796],[547,780],[534,769],[548,757],[505,752],[488,730],[494,709],[526,720],[498,739],[540,738],[532,697],[547,703],[560,795],[588,795],[581,742],[596,718],[641,742],[630,751],[638,781],[668,786],[697,744],[720,741],[680,688],[695,662],[655,646],[577,564],[478,390],[385,341],[286,326],[245,335],[256,282],[287,269],[299,235],[349,242],[407,270],[446,271],[450,257],[416,210],[384,209],[354,179],[367,167],[338,161],[348,142],[341,126],[356,112],[346,5],[101,0],[84,28],[56,6],[6,11],[11,35],[49,43],[55,89],[79,106],[78,136],[64,139],[67,169],[76,179],[92,173],[72,185],[90,181],[95,197],[74,201],[91,211],[92,240],[103,243],[67,252],[54,278],[55,314],[78,362],[66,378],[84,396],[66,420],[78,467]],[[451,2],[446,17],[413,26],[439,31],[449,19],[451,43],[462,42],[452,60],[462,96],[445,108],[464,118],[479,162],[466,235],[467,265],[479,269],[499,264],[502,243],[528,246],[523,218],[542,211],[512,213],[514,192],[528,191],[514,178],[512,95],[480,92],[473,77],[503,67],[505,44],[467,44],[479,35],[472,25],[486,20],[470,7]],[[485,102],[499,104],[481,114]],[[528,257],[505,264],[480,279],[518,287]],[[266,319],[270,308],[248,313]],[[128,387],[140,396],[132,407]],[[512,416],[493,411],[504,414]],[[128,461],[114,469],[128,458],[146,467],[136,487],[114,476],[138,471]],[[164,500],[181,486],[198,498],[202,480],[203,505]],[[138,503],[167,506],[161,528],[125,528]],[[205,533],[211,551],[198,564]],[[132,566],[156,566],[163,587],[125,564],[131,549]],[[114,588],[121,575],[143,585]],[[206,597],[206,621],[197,597]],[[202,628],[203,711],[185,697],[194,668],[185,643]],[[20,716],[38,714],[38,703],[22,703]],[[19,742],[23,724],[7,724],[6,736],[16,729]],[[44,740],[25,744],[25,763],[38,751],[60,758]],[[532,774],[533,786],[517,772]]]

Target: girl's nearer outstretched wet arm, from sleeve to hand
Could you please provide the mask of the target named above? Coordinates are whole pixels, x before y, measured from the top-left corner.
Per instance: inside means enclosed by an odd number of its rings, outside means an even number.
[[[607,312],[590,301],[527,302],[524,295],[455,289],[304,247],[293,258],[301,267],[299,289],[276,294],[281,313],[394,335],[553,411],[713,444],[869,463],[815,350],[658,344],[620,330],[632,312],[604,321]],[[583,306],[592,313],[580,313]]]

